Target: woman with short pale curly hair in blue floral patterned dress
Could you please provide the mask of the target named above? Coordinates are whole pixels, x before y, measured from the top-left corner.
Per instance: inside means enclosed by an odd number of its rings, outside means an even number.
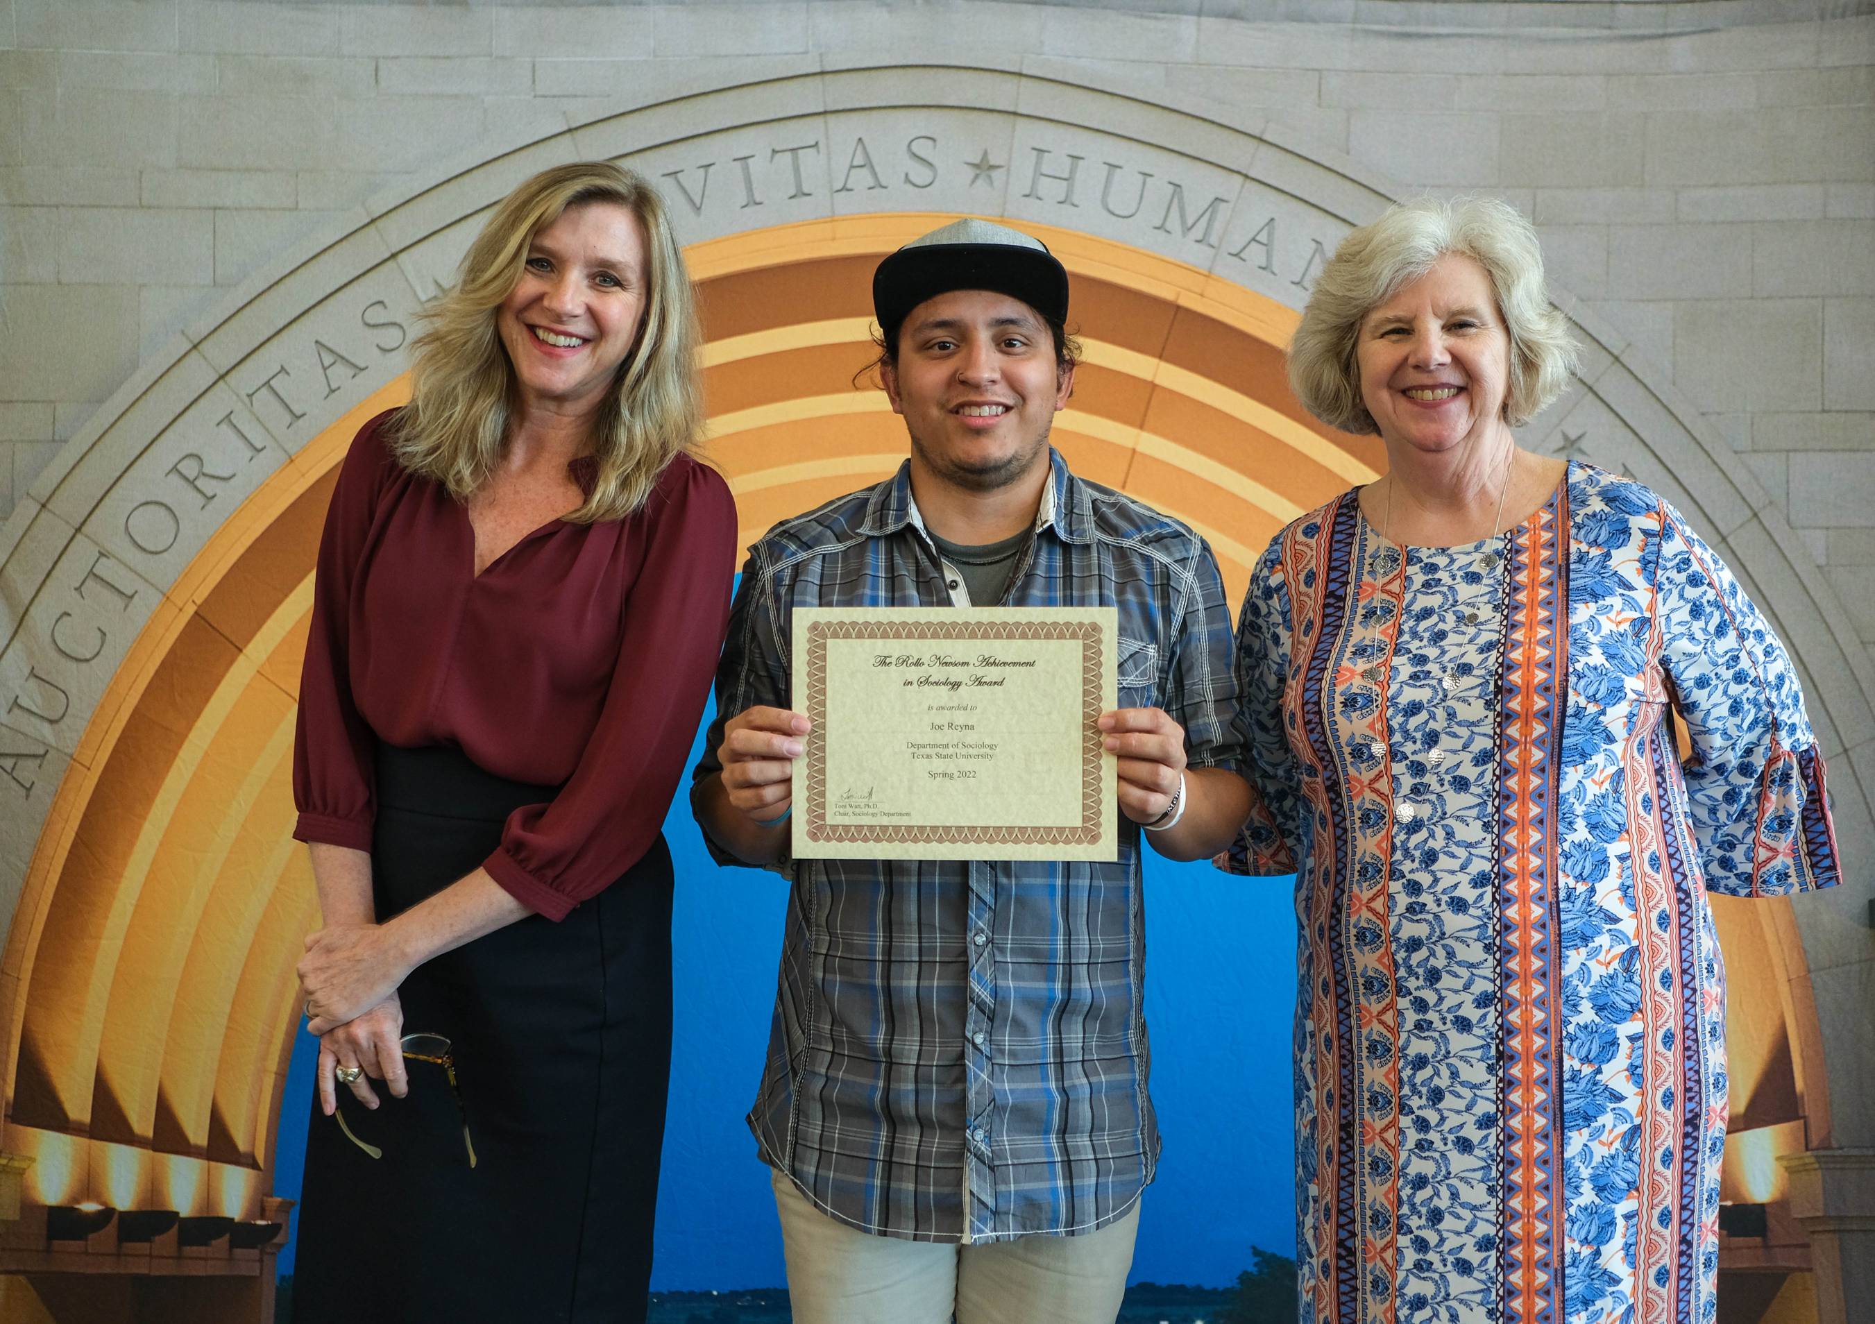
[[[1836,881],[1783,645],[1644,486],[1521,450],[1573,345],[1530,225],[1354,231],[1290,347],[1388,474],[1243,604],[1258,808],[1298,870],[1305,1324],[1708,1324],[1725,1146],[1704,893]],[[1689,756],[1682,765],[1680,741]]]

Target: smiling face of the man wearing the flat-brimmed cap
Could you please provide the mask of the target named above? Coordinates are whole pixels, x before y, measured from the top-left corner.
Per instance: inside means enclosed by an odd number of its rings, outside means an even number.
[[[969,491],[1007,488],[1046,465],[1048,428],[1074,386],[1041,313],[986,289],[913,308],[881,377],[911,433],[913,467]]]

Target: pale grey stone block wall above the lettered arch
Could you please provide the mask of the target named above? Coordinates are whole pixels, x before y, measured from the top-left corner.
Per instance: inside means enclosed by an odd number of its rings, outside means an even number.
[[[0,512],[223,291],[437,163],[698,71],[982,58],[1511,199],[1875,639],[1875,6],[0,0]]]

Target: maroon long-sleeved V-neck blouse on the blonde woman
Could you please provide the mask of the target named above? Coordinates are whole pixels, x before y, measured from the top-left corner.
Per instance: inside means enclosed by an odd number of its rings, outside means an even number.
[[[735,503],[679,456],[630,518],[553,519],[476,576],[469,512],[398,465],[384,418],[352,439],[319,542],[292,835],[371,850],[373,745],[456,745],[561,786],[484,868],[564,919],[664,825],[729,619]]]

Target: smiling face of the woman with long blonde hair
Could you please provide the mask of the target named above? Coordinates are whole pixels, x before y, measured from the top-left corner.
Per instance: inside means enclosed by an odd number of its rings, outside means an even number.
[[[534,233],[495,315],[523,407],[598,409],[645,321],[645,249],[643,223],[617,203],[568,206]]]

